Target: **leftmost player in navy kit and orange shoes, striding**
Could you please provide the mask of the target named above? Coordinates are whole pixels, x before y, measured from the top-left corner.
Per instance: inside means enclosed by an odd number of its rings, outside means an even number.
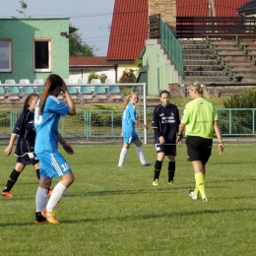
[[[18,142],[15,150],[15,156],[17,156],[17,163],[13,171],[11,172],[9,179],[2,191],[2,196],[12,197],[11,189],[17,182],[21,172],[24,170],[26,165],[32,164],[36,171],[36,176],[39,179],[39,160],[37,160],[34,154],[34,139],[35,130],[33,126],[33,110],[35,108],[35,103],[39,96],[32,94],[27,96],[24,109],[20,114],[13,133],[10,138],[8,147],[4,150],[6,156],[10,156],[14,143],[18,137]]]

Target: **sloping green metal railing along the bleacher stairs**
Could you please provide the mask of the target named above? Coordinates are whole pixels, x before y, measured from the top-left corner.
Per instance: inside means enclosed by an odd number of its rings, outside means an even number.
[[[160,19],[160,42],[169,57],[174,62],[176,68],[183,76],[183,53],[176,37],[170,32],[167,25]]]

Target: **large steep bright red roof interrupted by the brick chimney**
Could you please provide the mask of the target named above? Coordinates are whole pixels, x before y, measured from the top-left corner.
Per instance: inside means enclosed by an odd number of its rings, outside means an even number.
[[[157,0],[156,0],[157,1]],[[250,0],[215,0],[217,17],[238,16]],[[178,17],[208,16],[208,0],[176,0]],[[115,0],[107,60],[135,60],[148,38],[148,0]]]

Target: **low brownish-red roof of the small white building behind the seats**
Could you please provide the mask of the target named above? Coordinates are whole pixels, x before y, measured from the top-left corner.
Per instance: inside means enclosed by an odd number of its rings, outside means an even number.
[[[115,64],[106,60],[106,57],[69,57],[69,66],[75,67],[113,67]]]

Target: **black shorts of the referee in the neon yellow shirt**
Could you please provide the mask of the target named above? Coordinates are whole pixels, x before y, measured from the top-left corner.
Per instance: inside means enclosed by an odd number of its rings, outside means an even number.
[[[201,160],[203,164],[208,162],[212,154],[213,139],[187,136],[186,145],[188,160]]]

